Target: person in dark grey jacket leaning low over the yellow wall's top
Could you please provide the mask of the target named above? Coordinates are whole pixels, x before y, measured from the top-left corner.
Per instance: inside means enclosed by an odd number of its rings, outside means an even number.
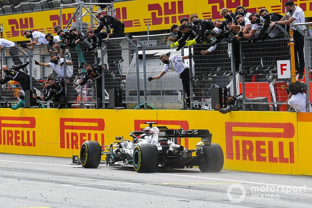
[[[233,111],[238,111],[243,109],[243,97],[235,97],[233,95],[227,95],[226,98],[228,106],[226,108],[220,108],[220,104],[216,105],[216,109],[222,113],[222,114],[227,114],[229,112]],[[245,100],[251,100],[250,98],[245,98]],[[247,110],[252,110],[251,104],[246,105]]]

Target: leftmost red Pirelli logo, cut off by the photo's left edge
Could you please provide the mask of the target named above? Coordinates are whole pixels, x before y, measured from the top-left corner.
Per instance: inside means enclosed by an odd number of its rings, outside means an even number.
[[[35,117],[0,116],[0,145],[36,147],[35,127]]]

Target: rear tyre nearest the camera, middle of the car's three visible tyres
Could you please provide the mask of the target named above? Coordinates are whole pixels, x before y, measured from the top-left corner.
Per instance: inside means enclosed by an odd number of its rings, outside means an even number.
[[[133,152],[133,167],[139,173],[156,172],[159,154],[154,144],[138,144]]]

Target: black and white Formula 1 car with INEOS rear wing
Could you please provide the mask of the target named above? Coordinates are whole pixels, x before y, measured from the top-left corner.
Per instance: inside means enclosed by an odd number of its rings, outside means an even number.
[[[163,168],[192,168],[202,172],[222,170],[224,157],[219,144],[211,143],[212,134],[207,129],[168,129],[153,127],[156,122],[146,122],[149,127],[133,131],[132,141],[116,137],[117,142],[100,146],[96,141],[85,141],[80,148],[80,158],[73,155],[73,164],[85,168],[97,168],[101,155],[106,155],[106,165],[134,167],[136,172],[156,172]],[[186,149],[181,138],[201,138],[196,149]]]

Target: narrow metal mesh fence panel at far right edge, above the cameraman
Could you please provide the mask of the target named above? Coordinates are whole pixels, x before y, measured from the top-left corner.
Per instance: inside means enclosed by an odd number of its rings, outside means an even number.
[[[296,23],[293,27],[297,29],[305,39],[305,84],[307,85],[306,91],[306,103],[307,112],[309,112],[309,106],[312,104],[312,22],[308,23]]]

